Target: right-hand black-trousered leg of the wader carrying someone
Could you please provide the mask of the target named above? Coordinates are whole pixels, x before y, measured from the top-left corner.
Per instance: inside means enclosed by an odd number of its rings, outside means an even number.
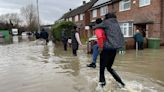
[[[123,83],[123,81],[121,80],[119,75],[115,72],[115,70],[112,69],[112,65],[114,63],[115,56],[116,56],[116,50],[109,50],[106,53],[106,55],[108,56],[108,59],[106,61],[107,70],[111,73],[111,75],[114,77],[114,79],[124,87],[125,84]]]

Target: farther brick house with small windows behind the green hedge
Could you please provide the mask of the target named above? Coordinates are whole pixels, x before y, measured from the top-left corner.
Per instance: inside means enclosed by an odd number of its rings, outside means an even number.
[[[90,11],[89,9],[93,6],[93,4],[97,0],[90,0],[88,3],[83,1],[83,5],[75,8],[70,9],[69,12],[65,13],[60,20],[65,21],[73,21],[76,23],[80,35],[83,36],[85,39],[87,38],[87,32],[85,30],[85,26],[90,23]]]

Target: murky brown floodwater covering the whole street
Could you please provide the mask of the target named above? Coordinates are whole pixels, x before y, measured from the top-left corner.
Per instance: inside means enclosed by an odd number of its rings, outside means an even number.
[[[99,59],[96,69],[86,67],[91,62],[86,46],[74,57],[70,48],[64,51],[52,42],[13,40],[0,45],[0,92],[97,92]],[[113,68],[127,89],[106,71],[104,92],[164,92],[163,55],[164,47],[118,54]]]

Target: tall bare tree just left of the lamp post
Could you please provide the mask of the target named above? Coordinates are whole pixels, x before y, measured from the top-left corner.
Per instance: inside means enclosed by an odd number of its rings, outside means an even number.
[[[21,8],[21,14],[27,24],[28,31],[37,31],[38,23],[36,7],[33,4],[29,4],[26,7]]]

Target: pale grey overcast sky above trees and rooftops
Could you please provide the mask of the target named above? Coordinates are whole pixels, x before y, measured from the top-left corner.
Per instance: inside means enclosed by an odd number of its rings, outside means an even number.
[[[70,8],[82,5],[82,1],[90,0],[39,0],[40,19],[44,24],[54,23]],[[20,9],[36,0],[0,0],[0,15],[6,13],[20,13]]]

